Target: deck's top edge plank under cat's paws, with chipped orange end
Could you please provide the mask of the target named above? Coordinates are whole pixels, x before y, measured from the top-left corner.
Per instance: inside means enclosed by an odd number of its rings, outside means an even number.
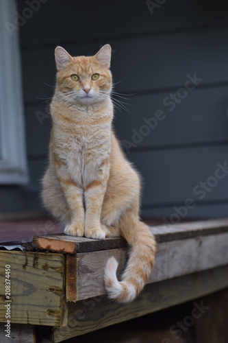
[[[151,232],[155,235],[157,242],[188,239],[197,236],[225,233],[227,231],[228,218],[188,222],[175,225],[164,224],[151,226]],[[85,237],[71,237],[62,234],[34,237],[33,246],[34,248],[42,250],[74,254],[76,252],[124,248],[126,246],[126,242],[120,237],[94,240]]]

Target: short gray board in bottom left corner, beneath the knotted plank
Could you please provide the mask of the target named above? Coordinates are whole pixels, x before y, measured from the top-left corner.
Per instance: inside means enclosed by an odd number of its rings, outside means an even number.
[[[32,325],[11,324],[10,338],[5,337],[4,323],[0,324],[0,342],[7,343],[36,343],[35,330]]]

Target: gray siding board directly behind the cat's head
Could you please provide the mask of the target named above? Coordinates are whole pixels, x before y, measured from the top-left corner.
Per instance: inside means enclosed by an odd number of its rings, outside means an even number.
[[[100,40],[97,43],[67,43],[64,48],[72,55],[91,55],[99,46],[110,43],[112,73],[115,88],[121,92],[170,91],[184,85],[186,75],[203,79],[199,86],[228,84],[228,27],[204,29],[199,32],[179,32],[122,40]],[[55,45],[40,49],[25,50],[23,56],[23,80],[25,102],[51,97],[55,84]],[[36,62],[35,62],[36,61]],[[46,84],[45,84],[46,83]]]

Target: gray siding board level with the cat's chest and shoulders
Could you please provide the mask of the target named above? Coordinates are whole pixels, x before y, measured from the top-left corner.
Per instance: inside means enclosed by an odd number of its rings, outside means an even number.
[[[129,151],[137,150],[135,145],[141,149],[156,149],[170,145],[228,142],[228,86],[196,88],[171,111],[173,106],[164,105],[164,99],[169,95],[170,92],[162,92],[123,99],[130,104],[126,105],[130,113],[116,109],[114,127],[126,147],[132,143]],[[162,120],[155,121],[157,110],[164,113]],[[27,106],[25,115],[27,153],[29,156],[47,154],[51,131],[48,106]]]

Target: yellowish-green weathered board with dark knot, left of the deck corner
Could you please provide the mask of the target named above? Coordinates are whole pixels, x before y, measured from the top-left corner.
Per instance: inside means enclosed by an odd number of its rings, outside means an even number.
[[[64,323],[64,267],[62,254],[0,252],[0,322],[5,322],[5,265],[10,265],[11,322]]]

